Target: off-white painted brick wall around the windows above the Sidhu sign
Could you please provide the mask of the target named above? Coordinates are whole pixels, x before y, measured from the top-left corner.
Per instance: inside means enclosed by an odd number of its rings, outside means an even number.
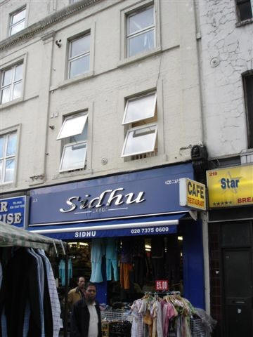
[[[98,1],[2,49],[1,67],[20,55],[26,55],[27,60],[23,100],[1,106],[1,131],[20,125],[17,178],[13,184],[2,185],[1,192],[190,160],[190,145],[202,143],[194,4],[191,0],[155,0],[160,18],[157,22],[160,46],[155,53],[150,52],[144,58],[137,56],[127,63],[121,50],[121,13],[124,8],[147,2]],[[37,20],[65,10],[68,1],[21,3],[29,4],[29,31]],[[1,3],[3,32],[14,5],[16,1]],[[91,29],[93,39],[93,70],[89,76],[66,80],[67,39],[86,29]],[[60,48],[56,40],[61,40]],[[1,46],[8,41],[5,35],[1,36]],[[154,88],[157,89],[158,155],[125,161],[120,157],[124,141],[124,99]],[[59,173],[61,144],[56,136],[63,117],[86,109],[89,112],[86,170]],[[102,164],[103,157],[108,159],[108,164]]]

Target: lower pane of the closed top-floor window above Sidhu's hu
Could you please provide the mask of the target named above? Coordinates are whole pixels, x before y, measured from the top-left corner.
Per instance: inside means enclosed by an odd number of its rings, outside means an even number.
[[[155,31],[152,29],[128,40],[128,55],[133,56],[155,47]]]

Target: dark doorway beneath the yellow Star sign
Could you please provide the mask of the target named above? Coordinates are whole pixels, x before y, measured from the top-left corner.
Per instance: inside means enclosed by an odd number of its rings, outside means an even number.
[[[239,227],[236,230],[235,225],[233,227],[230,234],[226,233],[226,239],[239,230]],[[223,239],[226,229],[228,229],[226,226],[223,227]],[[249,230],[249,227],[246,225],[242,232],[247,232],[247,229]],[[247,244],[249,237],[245,244]],[[234,247],[223,248],[221,254],[223,262],[224,336],[253,336],[252,246],[249,244],[249,247],[235,247],[236,240],[233,237],[231,239]],[[240,242],[240,239],[238,239],[238,242]]]

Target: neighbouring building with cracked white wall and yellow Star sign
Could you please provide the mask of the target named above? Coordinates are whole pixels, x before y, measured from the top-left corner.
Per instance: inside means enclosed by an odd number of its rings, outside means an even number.
[[[253,1],[199,1],[215,336],[252,336]]]

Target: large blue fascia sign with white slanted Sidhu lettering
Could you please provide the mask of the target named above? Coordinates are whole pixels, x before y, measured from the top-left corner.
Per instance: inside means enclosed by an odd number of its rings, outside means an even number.
[[[182,212],[179,179],[191,164],[31,190],[30,225],[85,223]]]

